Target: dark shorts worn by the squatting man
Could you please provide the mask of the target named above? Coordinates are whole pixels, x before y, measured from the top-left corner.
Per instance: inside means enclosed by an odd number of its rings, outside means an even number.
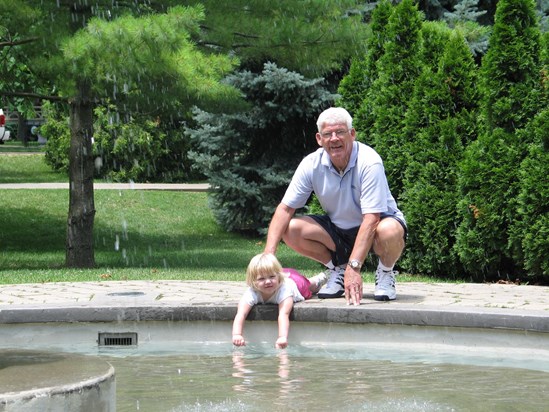
[[[322,228],[328,232],[332,240],[336,245],[336,250],[331,251],[332,253],[332,263],[336,266],[343,265],[349,261],[353,247],[355,246],[356,235],[360,226],[353,227],[351,229],[341,229],[333,224],[331,219],[327,215],[308,215],[315,222],[317,222]],[[400,225],[404,228],[404,240],[408,236],[408,228],[406,223],[397,216],[385,215],[381,216],[381,220],[386,218],[392,218],[398,221]]]

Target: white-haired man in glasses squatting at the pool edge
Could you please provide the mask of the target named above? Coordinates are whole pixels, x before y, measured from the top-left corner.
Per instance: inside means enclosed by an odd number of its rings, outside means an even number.
[[[370,249],[379,257],[374,298],[396,299],[393,267],[405,246],[406,221],[391,195],[383,162],[369,146],[356,142],[351,115],[332,107],[317,120],[320,148],[299,164],[267,233],[266,253],[281,240],[327,267],[320,298],[345,294],[360,305],[360,269]],[[326,215],[294,217],[314,192]]]

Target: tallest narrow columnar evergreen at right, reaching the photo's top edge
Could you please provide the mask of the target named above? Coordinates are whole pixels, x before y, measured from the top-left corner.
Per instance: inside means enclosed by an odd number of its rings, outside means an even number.
[[[544,104],[540,31],[532,0],[500,0],[483,59],[479,139],[461,165],[457,248],[476,279],[515,276],[509,227],[517,217],[519,166],[533,136],[517,133]]]

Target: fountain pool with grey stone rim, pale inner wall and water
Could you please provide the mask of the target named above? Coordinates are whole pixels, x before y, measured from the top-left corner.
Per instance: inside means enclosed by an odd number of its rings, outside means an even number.
[[[203,285],[189,289],[196,295]],[[238,296],[227,292],[231,285],[212,288]],[[119,290],[115,299],[107,290],[110,300],[73,305],[4,306],[0,352],[17,348],[112,365],[118,411],[543,410],[549,404],[549,322],[542,311],[421,307],[407,304],[406,295],[397,304],[360,307],[311,300],[294,308],[290,347],[279,351],[275,306],[253,309],[249,344],[234,348],[236,302],[204,293],[208,303],[169,302],[156,299],[157,289],[141,291]]]

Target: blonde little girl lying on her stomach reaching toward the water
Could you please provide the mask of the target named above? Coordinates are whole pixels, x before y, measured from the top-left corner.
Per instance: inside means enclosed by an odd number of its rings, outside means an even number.
[[[288,346],[290,312],[294,302],[310,299],[326,283],[327,275],[320,273],[307,279],[295,269],[282,269],[275,255],[261,253],[250,261],[246,271],[248,289],[240,299],[233,322],[233,344],[245,346],[242,336],[244,321],[254,305],[278,304],[278,339],[275,347]]]

